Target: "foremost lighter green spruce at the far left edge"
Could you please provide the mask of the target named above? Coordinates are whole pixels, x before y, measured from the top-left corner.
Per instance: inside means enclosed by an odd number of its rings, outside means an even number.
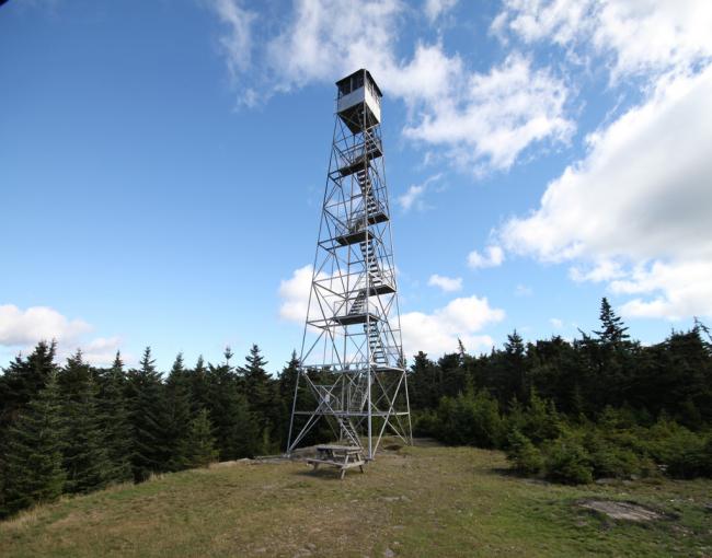
[[[5,509],[14,513],[59,498],[65,487],[62,469],[64,420],[57,372],[20,414],[8,432],[5,454]]]

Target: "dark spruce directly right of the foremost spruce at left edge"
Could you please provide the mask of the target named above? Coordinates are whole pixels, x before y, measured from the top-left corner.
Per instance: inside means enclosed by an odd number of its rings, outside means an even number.
[[[64,451],[66,490],[91,492],[106,486],[112,466],[96,405],[96,384],[80,350],[67,359],[59,379],[67,423]]]

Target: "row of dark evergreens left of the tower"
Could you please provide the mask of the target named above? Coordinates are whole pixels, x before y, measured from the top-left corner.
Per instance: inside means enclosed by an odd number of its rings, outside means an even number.
[[[286,443],[298,360],[273,377],[255,345],[242,367],[179,354],[162,374],[147,348],[126,369],[64,365],[41,341],[0,376],[0,516],[61,493],[140,483],[157,473],[277,453]]]

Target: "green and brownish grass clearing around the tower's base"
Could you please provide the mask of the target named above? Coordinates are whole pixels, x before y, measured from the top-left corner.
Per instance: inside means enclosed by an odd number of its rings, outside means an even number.
[[[406,447],[343,481],[300,463],[190,470],[0,523],[0,556],[712,556],[711,481],[565,487],[506,467],[499,452]],[[669,519],[613,521],[584,498]]]

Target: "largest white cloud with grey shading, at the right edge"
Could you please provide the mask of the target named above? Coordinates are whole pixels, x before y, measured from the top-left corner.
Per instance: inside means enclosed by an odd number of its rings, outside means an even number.
[[[501,240],[541,260],[575,259],[578,280],[645,293],[628,315],[712,315],[712,65],[661,78],[651,96],[588,139],[588,154],[549,184],[539,209]]]

